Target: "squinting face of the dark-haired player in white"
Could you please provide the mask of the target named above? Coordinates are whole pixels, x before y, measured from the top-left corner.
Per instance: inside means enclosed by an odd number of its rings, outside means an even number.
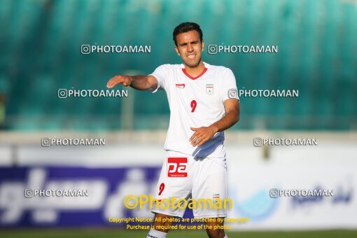
[[[197,67],[201,62],[204,42],[200,40],[200,34],[193,30],[176,36],[177,46],[175,50],[183,60],[183,63],[190,68]]]

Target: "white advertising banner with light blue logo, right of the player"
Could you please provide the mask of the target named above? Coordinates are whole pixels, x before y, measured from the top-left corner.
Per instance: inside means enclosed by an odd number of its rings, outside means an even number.
[[[310,165],[229,163],[234,230],[357,228],[356,168],[337,160]]]

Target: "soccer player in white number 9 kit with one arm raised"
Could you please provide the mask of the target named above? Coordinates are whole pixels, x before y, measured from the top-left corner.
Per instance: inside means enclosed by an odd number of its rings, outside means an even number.
[[[156,199],[176,200],[227,198],[227,165],[223,131],[239,120],[237,84],[232,71],[202,62],[204,41],[200,26],[184,22],[174,29],[175,50],[183,64],[162,64],[148,76],[115,76],[117,84],[137,90],[165,90],[170,123]],[[169,219],[183,217],[184,209],[154,206],[155,222],[147,237],[167,237]],[[225,218],[222,209],[193,209],[195,218]],[[160,219],[161,218],[161,219]],[[207,219],[208,226],[223,226],[223,219]],[[207,229],[209,237],[227,237],[224,229]]]

